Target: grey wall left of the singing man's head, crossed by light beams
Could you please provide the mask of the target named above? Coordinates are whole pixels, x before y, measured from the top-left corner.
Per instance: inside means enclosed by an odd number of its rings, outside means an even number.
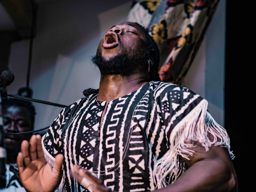
[[[84,89],[99,88],[100,72],[90,57],[105,32],[127,20],[130,6],[130,0],[40,3],[30,80],[33,98],[69,105],[84,97]],[[28,45],[28,41],[12,44],[9,67],[15,81],[8,87],[11,94],[26,84]],[[51,124],[61,110],[35,106],[35,129]]]

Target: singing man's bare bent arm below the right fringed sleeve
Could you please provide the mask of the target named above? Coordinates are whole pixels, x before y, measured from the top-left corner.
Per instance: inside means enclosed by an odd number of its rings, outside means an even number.
[[[207,152],[202,146],[189,149],[195,151],[193,156],[188,156],[190,160],[182,157],[188,170],[170,186],[156,189],[156,192],[238,191],[235,168],[227,148],[212,145]]]

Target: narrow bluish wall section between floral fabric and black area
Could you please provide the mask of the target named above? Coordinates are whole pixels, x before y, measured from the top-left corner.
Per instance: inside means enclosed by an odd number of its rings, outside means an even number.
[[[183,86],[208,101],[208,110],[224,126],[226,0],[220,0]]]

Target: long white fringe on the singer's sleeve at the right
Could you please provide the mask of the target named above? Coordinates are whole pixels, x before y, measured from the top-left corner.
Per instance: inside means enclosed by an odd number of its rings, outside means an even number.
[[[233,151],[230,151],[230,139],[227,131],[212,118],[207,111],[207,106],[207,100],[203,99],[173,128],[170,135],[170,149],[161,159],[156,160],[155,157],[153,170],[155,189],[171,185],[180,174],[188,169],[181,156],[190,160],[188,156],[193,156],[195,151],[187,147],[197,147],[197,145],[185,144],[185,141],[197,141],[206,151],[212,144],[226,147],[231,159],[234,159]],[[209,134],[213,136],[212,141],[208,138]],[[220,139],[219,142],[217,141],[218,138]],[[168,182],[166,178],[168,178]]]

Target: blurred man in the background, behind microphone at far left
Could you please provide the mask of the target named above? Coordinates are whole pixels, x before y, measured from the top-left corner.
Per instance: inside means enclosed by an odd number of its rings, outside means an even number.
[[[4,99],[3,120],[5,133],[20,133],[33,131],[35,121],[35,107],[29,101]],[[6,190],[26,191],[20,181],[16,158],[20,152],[22,140],[29,140],[32,133],[9,135],[5,134],[5,148],[7,152]]]

